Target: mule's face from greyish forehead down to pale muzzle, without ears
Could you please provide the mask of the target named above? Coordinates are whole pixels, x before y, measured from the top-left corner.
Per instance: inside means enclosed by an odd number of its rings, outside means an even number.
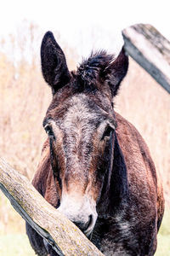
[[[58,172],[59,210],[89,235],[97,218],[96,202],[107,171],[105,152],[112,143],[115,120],[93,98],[77,94],[49,110],[43,123],[54,173]]]

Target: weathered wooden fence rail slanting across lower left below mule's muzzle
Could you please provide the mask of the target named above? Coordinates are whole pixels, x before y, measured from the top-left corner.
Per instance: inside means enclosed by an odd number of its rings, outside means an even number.
[[[0,158],[0,189],[14,209],[59,255],[102,256],[82,231],[54,209],[28,179]]]

